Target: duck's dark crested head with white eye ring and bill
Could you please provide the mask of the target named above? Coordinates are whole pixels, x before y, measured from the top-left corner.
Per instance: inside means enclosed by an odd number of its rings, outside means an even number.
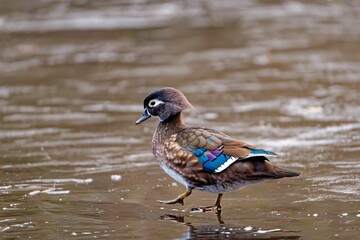
[[[188,108],[192,108],[192,105],[179,90],[161,88],[144,99],[144,114],[135,124],[138,125],[150,117],[158,117],[160,122],[166,122]]]

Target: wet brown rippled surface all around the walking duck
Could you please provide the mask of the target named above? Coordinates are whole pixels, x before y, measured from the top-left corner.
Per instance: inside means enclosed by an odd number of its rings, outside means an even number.
[[[355,239],[358,1],[0,0],[0,239]],[[159,205],[142,100],[172,86],[212,127],[300,171]],[[219,221],[220,220],[220,221]],[[224,223],[221,223],[223,221]]]

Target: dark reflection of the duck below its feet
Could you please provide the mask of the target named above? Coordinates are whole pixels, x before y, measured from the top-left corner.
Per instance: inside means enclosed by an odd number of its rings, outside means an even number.
[[[218,225],[195,226],[191,222],[185,221],[182,215],[163,215],[162,220],[184,223],[187,232],[182,238],[178,239],[301,239],[298,232],[283,231],[281,229],[262,229],[253,226],[233,226],[225,224],[221,219],[221,211],[217,212]]]

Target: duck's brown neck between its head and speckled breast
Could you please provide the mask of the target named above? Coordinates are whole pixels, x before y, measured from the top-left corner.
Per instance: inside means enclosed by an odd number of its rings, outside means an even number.
[[[154,141],[156,141],[157,143],[163,142],[168,137],[170,137],[174,133],[179,132],[184,128],[185,128],[185,124],[180,112],[170,117],[166,121],[159,123],[154,134],[153,142]]]

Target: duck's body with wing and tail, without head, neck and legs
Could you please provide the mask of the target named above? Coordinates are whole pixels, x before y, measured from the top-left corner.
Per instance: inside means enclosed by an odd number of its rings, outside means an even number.
[[[212,129],[182,128],[170,136],[157,132],[153,150],[169,175],[203,191],[227,192],[267,179],[299,175],[271,164],[265,156],[274,153]]]

